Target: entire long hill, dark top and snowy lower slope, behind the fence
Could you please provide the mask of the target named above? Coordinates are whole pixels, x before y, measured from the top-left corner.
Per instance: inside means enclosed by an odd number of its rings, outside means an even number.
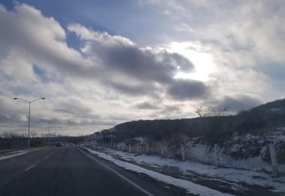
[[[235,116],[129,121],[90,135],[86,143],[132,149],[149,145],[153,155],[160,155],[163,145],[164,156],[174,159],[181,159],[182,144],[186,159],[206,164],[214,162],[217,144],[221,165],[258,170],[270,170],[268,144],[275,144],[277,161],[285,169],[285,99]]]

